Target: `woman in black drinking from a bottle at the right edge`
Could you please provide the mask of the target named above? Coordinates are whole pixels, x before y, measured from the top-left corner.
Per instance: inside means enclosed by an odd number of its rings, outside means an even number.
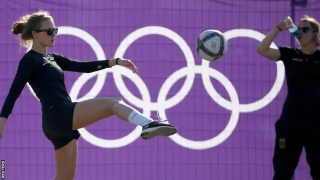
[[[262,56],[285,67],[287,95],[282,113],[275,123],[273,180],[290,180],[298,164],[302,147],[313,179],[320,179],[320,44],[319,22],[303,16],[297,27],[285,17],[257,47]],[[297,31],[292,33],[292,29]],[[270,47],[274,38],[290,30],[299,47]],[[289,31],[288,31],[289,32]]]

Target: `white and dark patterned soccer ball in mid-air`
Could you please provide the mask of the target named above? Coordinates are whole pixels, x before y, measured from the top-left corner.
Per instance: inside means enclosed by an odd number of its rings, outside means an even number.
[[[217,60],[225,54],[227,49],[228,42],[223,33],[218,30],[205,30],[196,40],[196,51],[204,60]]]

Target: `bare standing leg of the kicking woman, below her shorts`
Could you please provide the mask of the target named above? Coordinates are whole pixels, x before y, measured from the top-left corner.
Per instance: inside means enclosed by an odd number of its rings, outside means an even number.
[[[55,150],[56,176],[54,180],[73,180],[77,161],[77,140]]]

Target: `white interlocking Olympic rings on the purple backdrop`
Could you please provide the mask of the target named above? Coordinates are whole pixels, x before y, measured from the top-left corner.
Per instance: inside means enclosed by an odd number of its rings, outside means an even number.
[[[74,35],[78,38],[81,38],[82,40],[84,40],[86,43],[90,45],[90,47],[93,49],[94,53],[96,54],[97,59],[106,59],[101,45],[88,32],[72,26],[60,26],[59,35],[63,35],[63,34]],[[92,73],[81,74],[78,77],[78,79],[75,80],[74,84],[71,87],[69,94],[72,100],[81,101],[81,100],[86,100],[89,98],[96,97],[96,95],[100,92],[100,90],[104,85],[104,81],[107,73],[112,73],[113,79],[116,79],[114,80],[115,85],[119,90],[120,94],[123,96],[123,98],[125,98],[128,102],[135,105],[136,107],[141,108],[143,110],[142,113],[144,115],[150,116],[151,111],[158,111],[160,116],[166,119],[167,117],[166,117],[165,110],[180,103],[190,91],[194,81],[195,74],[196,73],[201,74],[202,82],[205,90],[207,91],[209,96],[212,98],[212,100],[214,100],[217,104],[219,104],[223,108],[231,111],[230,119],[226,127],[217,136],[212,137],[211,139],[208,139],[208,140],[203,140],[203,141],[190,140],[180,136],[178,133],[172,136],[169,136],[169,138],[172,139],[175,143],[185,148],[202,150],[202,149],[212,148],[214,146],[219,145],[223,141],[225,141],[231,135],[234,128],[236,127],[240,112],[242,113],[253,112],[255,110],[259,110],[263,108],[277,96],[278,92],[282,87],[282,84],[284,81],[284,66],[281,61],[277,61],[276,62],[277,74],[276,74],[275,82],[271,87],[270,91],[261,99],[255,102],[240,104],[237,92],[233,84],[230,82],[230,80],[226,76],[224,76],[221,72],[215,70],[214,68],[209,67],[208,61],[202,60],[201,65],[195,65],[192,51],[188,46],[188,44],[185,42],[185,40],[179,34],[162,26],[145,26],[145,27],[141,27],[139,29],[134,30],[129,35],[127,35],[119,44],[119,46],[117,47],[114,53],[114,57],[122,57],[126,49],[130,46],[131,43],[133,43],[135,40],[137,40],[140,37],[151,35],[151,34],[162,35],[171,39],[180,47],[186,59],[186,66],[173,72],[164,81],[164,83],[162,84],[159,90],[156,102],[151,102],[150,93],[144,81],[137,74],[133,74],[130,69],[122,66],[114,66],[112,68],[106,68],[106,69],[92,72]],[[231,29],[224,32],[224,35],[228,40],[236,37],[249,37],[258,41],[261,41],[265,36],[264,34],[252,29]],[[275,46],[273,42],[272,42],[272,46]],[[78,93],[82,88],[82,86],[86,83],[87,80],[89,80],[95,75],[97,76],[96,81],[94,85],[91,87],[91,89],[89,90],[89,92],[87,92],[82,97],[78,97]],[[138,88],[139,92],[142,95],[141,99],[133,95],[128,90],[128,88],[126,88],[126,85],[124,84],[122,79],[122,75],[126,76],[132,82],[135,83],[136,87]],[[186,79],[181,89],[173,97],[166,99],[166,95],[170,90],[170,88],[172,87],[172,85],[184,76],[186,76]],[[230,101],[222,97],[214,89],[210,81],[210,77],[215,78],[224,86],[224,88],[227,90],[229,94]],[[27,86],[30,89],[31,93],[35,96],[30,85],[27,84]],[[87,142],[95,146],[103,147],[103,148],[117,148],[117,147],[128,145],[131,142],[133,142],[137,137],[139,137],[139,134],[141,132],[141,127],[136,126],[136,128],[132,132],[118,139],[99,138],[91,134],[85,128],[81,128],[79,129],[79,131],[84,140],[86,140]]]

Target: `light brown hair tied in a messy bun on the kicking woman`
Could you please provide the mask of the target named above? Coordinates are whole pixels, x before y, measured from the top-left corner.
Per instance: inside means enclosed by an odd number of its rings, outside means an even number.
[[[32,43],[32,31],[38,30],[43,20],[53,19],[45,10],[38,10],[32,14],[25,14],[13,23],[12,33],[20,34],[20,45],[28,47]]]

